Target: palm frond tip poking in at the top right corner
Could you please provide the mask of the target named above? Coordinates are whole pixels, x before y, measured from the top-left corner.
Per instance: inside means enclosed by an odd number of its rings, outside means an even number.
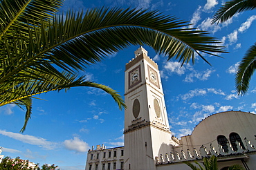
[[[226,3],[223,4],[214,14],[212,24],[215,22],[222,23],[239,12],[243,12],[244,10],[253,10],[254,8],[256,8],[255,0],[226,1]]]

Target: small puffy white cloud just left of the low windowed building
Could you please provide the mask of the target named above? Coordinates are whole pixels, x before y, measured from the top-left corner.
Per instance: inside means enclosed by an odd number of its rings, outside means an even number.
[[[71,140],[65,140],[64,147],[68,150],[76,152],[86,152],[88,151],[88,149],[90,149],[89,145],[86,142],[80,140],[80,138],[77,137],[74,137]]]

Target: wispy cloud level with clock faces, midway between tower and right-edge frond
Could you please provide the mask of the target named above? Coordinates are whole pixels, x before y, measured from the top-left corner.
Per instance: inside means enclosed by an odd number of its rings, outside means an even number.
[[[184,82],[194,82],[194,78],[205,81],[210,77],[211,73],[214,73],[214,71],[215,70],[207,69],[207,70],[199,73],[197,70],[193,70],[193,73],[186,75]]]

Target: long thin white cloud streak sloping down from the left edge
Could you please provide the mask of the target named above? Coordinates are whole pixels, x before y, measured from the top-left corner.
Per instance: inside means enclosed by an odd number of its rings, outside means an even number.
[[[22,135],[21,133],[13,133],[8,131],[0,130],[1,135],[6,135],[15,140],[19,140],[21,142],[27,144],[37,145],[39,147],[43,147],[44,149],[55,149],[57,144],[55,142],[49,142],[44,138],[37,138],[33,135]]]

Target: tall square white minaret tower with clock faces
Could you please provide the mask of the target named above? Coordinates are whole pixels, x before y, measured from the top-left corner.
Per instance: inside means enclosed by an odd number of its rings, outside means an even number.
[[[156,169],[155,157],[172,151],[158,65],[140,47],[125,70],[125,169]]]

